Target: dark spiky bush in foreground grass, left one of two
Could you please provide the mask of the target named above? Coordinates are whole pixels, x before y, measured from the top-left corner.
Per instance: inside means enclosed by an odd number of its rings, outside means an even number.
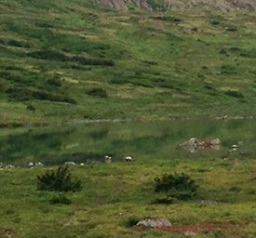
[[[68,166],[60,166],[57,170],[48,170],[37,176],[37,189],[42,191],[78,192],[82,189],[79,179],[72,179]]]

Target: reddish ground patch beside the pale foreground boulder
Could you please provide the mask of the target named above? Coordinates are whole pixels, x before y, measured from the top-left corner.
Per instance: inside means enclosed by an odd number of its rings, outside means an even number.
[[[175,231],[175,232],[184,232],[184,231],[193,231],[195,233],[208,233],[209,231],[220,231],[220,230],[234,230],[238,228],[239,225],[234,225],[230,223],[202,223],[196,225],[179,225],[171,227],[160,227],[155,230],[160,231]]]

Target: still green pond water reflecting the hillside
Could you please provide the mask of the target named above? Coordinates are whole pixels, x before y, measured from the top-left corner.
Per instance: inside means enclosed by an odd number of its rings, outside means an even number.
[[[190,139],[221,139],[220,150],[189,152],[179,147]],[[230,147],[242,141],[235,152]],[[0,129],[0,162],[26,166],[114,162],[125,156],[136,160],[197,157],[256,158],[256,121],[157,121],[75,126]]]

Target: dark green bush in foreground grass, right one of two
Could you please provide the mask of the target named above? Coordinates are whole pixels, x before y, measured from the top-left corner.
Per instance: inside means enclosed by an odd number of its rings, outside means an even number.
[[[163,175],[155,178],[155,192],[168,192],[167,199],[188,200],[196,195],[195,180],[185,174]],[[162,199],[161,199],[162,200]]]

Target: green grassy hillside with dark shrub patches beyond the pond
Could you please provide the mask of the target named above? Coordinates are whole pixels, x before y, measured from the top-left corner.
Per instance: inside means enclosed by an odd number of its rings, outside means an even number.
[[[256,114],[253,13],[0,2],[0,124]]]

